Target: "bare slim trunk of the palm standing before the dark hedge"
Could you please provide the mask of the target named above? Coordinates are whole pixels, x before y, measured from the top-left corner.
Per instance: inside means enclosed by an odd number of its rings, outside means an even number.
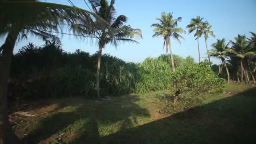
[[[96,86],[97,86],[97,96],[99,99],[101,99],[101,94],[100,94],[100,69],[101,69],[101,52],[102,52],[103,45],[99,45],[99,53],[98,53],[98,64],[97,64],[97,73],[96,73]]]

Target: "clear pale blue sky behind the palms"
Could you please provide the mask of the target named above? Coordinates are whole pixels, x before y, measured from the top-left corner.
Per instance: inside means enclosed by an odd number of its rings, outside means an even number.
[[[67,0],[43,0],[51,3],[61,3],[70,5]],[[88,10],[83,0],[71,0],[75,6]],[[212,25],[212,30],[216,38],[226,38],[226,40],[234,40],[237,34],[245,34],[249,37],[249,31],[256,32],[256,0],[116,0],[115,8],[117,15],[127,16],[128,25],[133,28],[142,30],[143,39],[136,39],[139,45],[126,43],[119,45],[116,49],[112,45],[107,45],[103,53],[110,53],[113,56],[124,59],[125,61],[143,61],[147,57],[157,57],[165,53],[163,48],[163,39],[152,38],[153,32],[150,25],[156,23],[157,17],[161,16],[162,12],[173,12],[174,18],[182,17],[178,27],[186,29],[190,19],[196,16],[204,17]],[[192,56],[198,61],[197,41],[194,34],[183,34],[185,41],[181,45],[171,39],[173,53],[182,57]],[[61,37],[62,48],[68,52],[74,52],[79,48],[83,51],[95,53],[98,49],[97,43],[92,43],[92,40],[77,40],[68,35]],[[200,39],[201,57],[206,57],[204,38]],[[216,39],[209,37],[208,47]],[[43,45],[43,42],[33,37],[28,40],[23,40],[16,45],[14,52],[17,52],[21,46],[28,42],[33,42],[36,45]],[[0,44],[3,43],[3,38],[0,39]],[[212,59],[214,63],[219,61]]]

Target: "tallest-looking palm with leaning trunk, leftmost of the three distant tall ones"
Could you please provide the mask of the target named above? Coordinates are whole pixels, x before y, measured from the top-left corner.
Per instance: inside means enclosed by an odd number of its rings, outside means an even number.
[[[181,17],[178,19],[173,19],[172,13],[163,13],[161,18],[157,18],[157,21],[160,21],[160,23],[152,24],[151,27],[155,27],[153,29],[153,32],[155,34],[152,37],[163,37],[163,48],[166,48],[166,53],[168,53],[168,47],[170,49],[170,55],[171,55],[171,67],[173,69],[173,72],[175,72],[175,65],[173,60],[173,53],[171,50],[171,37],[173,37],[175,40],[178,40],[179,43],[181,41],[180,38],[184,40],[184,37],[182,37],[179,33],[186,33],[181,27],[178,26],[178,22],[181,21]]]

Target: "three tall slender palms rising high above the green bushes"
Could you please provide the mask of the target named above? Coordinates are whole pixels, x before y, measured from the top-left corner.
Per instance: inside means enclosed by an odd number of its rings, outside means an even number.
[[[152,24],[151,27],[155,27],[153,29],[153,32],[155,32],[153,37],[158,37],[158,36],[163,37],[164,39],[163,48],[166,48],[166,53],[168,52],[168,48],[169,48],[170,55],[171,55],[171,67],[173,72],[175,72],[173,53],[171,50],[171,37],[173,37],[174,40],[178,40],[178,42],[181,43],[180,39],[184,40],[184,37],[182,37],[180,34],[186,33],[186,31],[183,30],[181,27],[177,27],[178,22],[181,22],[182,18],[179,17],[178,19],[173,19],[172,14],[173,13],[167,13],[167,14],[162,13],[162,16],[156,19],[160,23]],[[203,21],[203,19],[204,18],[200,18],[200,16],[197,16],[196,18],[191,19],[190,24],[188,24],[186,27],[189,29],[189,33],[195,31],[194,37],[196,37],[196,40],[197,40],[199,62],[200,62],[199,37],[204,35],[207,51],[208,51],[207,40],[209,35],[215,37],[215,35],[213,34],[213,31],[211,30],[211,25],[208,23],[208,21]],[[208,54],[208,59],[210,61],[209,54]]]

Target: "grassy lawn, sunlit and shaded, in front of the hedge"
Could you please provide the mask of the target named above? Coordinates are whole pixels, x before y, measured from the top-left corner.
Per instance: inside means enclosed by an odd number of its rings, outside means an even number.
[[[173,115],[159,113],[163,96],[171,93],[157,91],[105,101],[67,98],[21,104],[23,109],[13,108],[10,119],[29,144],[256,143],[256,87],[233,83],[224,91],[200,95],[200,103]],[[31,115],[21,117],[17,111]]]

